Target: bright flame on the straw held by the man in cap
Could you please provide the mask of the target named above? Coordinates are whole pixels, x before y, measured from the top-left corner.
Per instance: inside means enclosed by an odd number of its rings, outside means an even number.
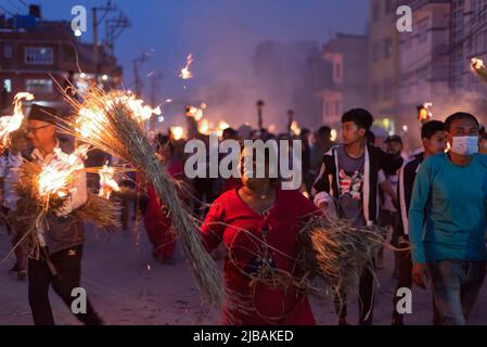
[[[71,187],[74,174],[82,170],[89,145],[80,145],[73,154],[66,154],[60,149],[54,149],[54,158],[42,166],[42,171],[38,177],[38,192],[48,202],[49,198],[65,197],[75,191]]]

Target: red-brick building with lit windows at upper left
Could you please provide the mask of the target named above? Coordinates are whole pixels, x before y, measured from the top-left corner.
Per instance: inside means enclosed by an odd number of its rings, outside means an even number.
[[[59,107],[63,104],[57,83],[67,78],[84,88],[94,78],[92,44],[81,42],[69,22],[50,22],[36,15],[0,16],[0,88],[2,108],[10,108],[13,95],[34,93],[36,102]],[[106,87],[121,83],[121,67],[103,48],[99,53],[99,82]],[[72,72],[72,73],[69,73]]]

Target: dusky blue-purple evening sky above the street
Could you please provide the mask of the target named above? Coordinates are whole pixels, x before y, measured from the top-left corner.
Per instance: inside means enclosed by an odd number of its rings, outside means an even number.
[[[12,12],[20,1],[1,1]],[[25,2],[28,2],[27,0]],[[88,10],[88,31],[92,40],[91,7],[104,1],[42,0],[46,20],[71,21],[73,5]],[[148,75],[161,73],[159,100],[189,99],[197,89],[216,80],[240,80],[252,74],[255,47],[266,40],[315,40],[320,47],[333,33],[364,34],[369,17],[366,0],[118,0],[116,5],[131,21],[115,42],[115,53],[124,67],[124,87],[133,88],[132,59],[151,52],[141,69],[144,98],[150,97]],[[114,16],[115,13],[110,16]],[[104,25],[100,27],[104,38]],[[194,78],[182,81],[179,70],[189,53],[194,56]],[[183,85],[187,87],[183,88]]]

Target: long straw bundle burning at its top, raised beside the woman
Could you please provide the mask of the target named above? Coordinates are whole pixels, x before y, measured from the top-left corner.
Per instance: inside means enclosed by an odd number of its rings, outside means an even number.
[[[148,114],[150,116],[156,110],[142,106],[142,102],[132,94],[120,91],[106,93],[95,86],[86,91],[82,103],[66,93],[65,97],[77,111],[77,117],[62,119],[59,126],[61,130],[132,164],[143,172],[169,209],[193,277],[204,297],[219,305],[223,296],[220,272],[205,250],[192,216],[182,206],[174,182],[156,158],[144,133],[143,123]]]

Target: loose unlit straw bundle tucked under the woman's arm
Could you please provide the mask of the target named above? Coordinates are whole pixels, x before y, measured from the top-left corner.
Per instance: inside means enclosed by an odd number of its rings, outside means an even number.
[[[318,283],[308,287],[313,287],[310,294],[355,292],[364,268],[375,273],[374,258],[385,244],[385,235],[377,227],[357,228],[344,219],[311,218],[299,233],[297,257],[304,278],[315,278]]]

